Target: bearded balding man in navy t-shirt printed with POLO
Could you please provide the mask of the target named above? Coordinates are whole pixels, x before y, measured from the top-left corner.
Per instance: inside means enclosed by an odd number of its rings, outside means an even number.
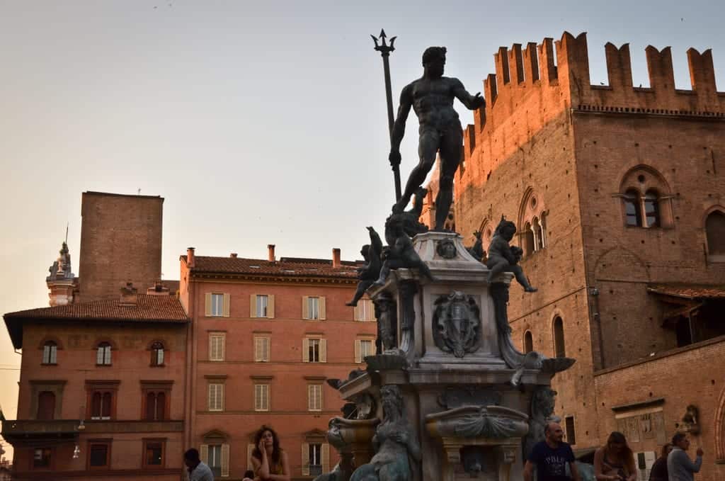
[[[571,446],[562,441],[564,432],[558,423],[550,422],[544,429],[546,440],[534,445],[534,449],[523,467],[524,481],[534,479],[534,465],[537,466],[537,481],[581,481],[579,471],[574,464]],[[571,477],[566,475],[566,464],[571,469]]]

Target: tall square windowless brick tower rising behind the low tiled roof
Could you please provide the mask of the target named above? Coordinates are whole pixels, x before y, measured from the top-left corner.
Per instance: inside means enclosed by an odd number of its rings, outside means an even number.
[[[159,196],[83,192],[79,300],[115,299],[128,282],[145,289],[161,279],[163,206]]]

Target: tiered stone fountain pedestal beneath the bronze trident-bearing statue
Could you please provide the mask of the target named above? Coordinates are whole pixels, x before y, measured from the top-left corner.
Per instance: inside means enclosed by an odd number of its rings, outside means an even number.
[[[462,241],[453,233],[418,234],[413,246],[434,280],[400,268],[368,289],[373,300],[394,304],[397,316],[379,316],[378,332],[396,332],[397,348],[365,358],[365,374],[339,388],[350,402],[376,400],[378,438],[387,443],[373,464],[356,463],[353,481],[386,473],[381,463],[402,453],[407,464],[391,468],[401,480],[523,478],[524,440],[530,445],[539,436],[553,408],[545,401],[553,396],[554,371],[573,360],[514,348],[506,312],[513,275],[489,284],[488,269]],[[387,481],[388,474],[374,475]]]

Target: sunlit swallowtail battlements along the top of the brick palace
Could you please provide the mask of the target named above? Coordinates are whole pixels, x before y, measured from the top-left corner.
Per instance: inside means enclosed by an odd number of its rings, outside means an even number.
[[[564,32],[558,41],[544,38],[538,45],[500,47],[494,54],[496,73],[484,79],[486,107],[476,110],[473,125],[464,129],[465,160],[471,160],[476,147],[490,144],[494,132],[494,141],[504,143],[500,154],[505,157],[568,107],[725,118],[725,92],[716,89],[710,49],[687,51],[692,90],[675,89],[670,47],[660,51],[650,45],[645,53],[650,87],[632,83],[629,44],[617,48],[611,43],[605,45],[609,85],[599,86],[589,81],[586,33],[575,37]],[[480,169],[488,173],[498,163],[494,156]]]

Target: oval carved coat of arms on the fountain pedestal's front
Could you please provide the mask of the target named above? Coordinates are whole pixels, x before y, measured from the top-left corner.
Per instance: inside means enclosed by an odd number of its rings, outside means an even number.
[[[481,316],[473,296],[454,291],[434,303],[433,339],[439,349],[463,358],[473,353],[481,340]]]

